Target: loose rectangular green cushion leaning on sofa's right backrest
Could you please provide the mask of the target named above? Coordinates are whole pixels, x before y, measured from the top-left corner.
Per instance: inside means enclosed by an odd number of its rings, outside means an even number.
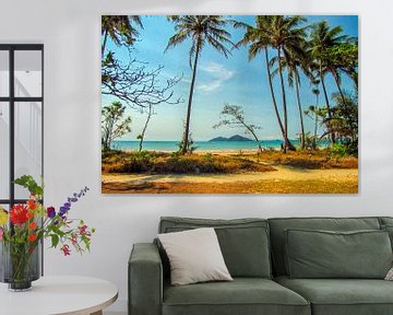
[[[386,231],[286,230],[286,265],[293,279],[384,279],[392,267]]]

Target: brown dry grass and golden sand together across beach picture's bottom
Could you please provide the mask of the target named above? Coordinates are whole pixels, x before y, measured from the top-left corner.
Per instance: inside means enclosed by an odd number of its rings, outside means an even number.
[[[140,172],[119,172],[135,170],[127,164],[135,158],[132,153],[120,156],[103,160],[104,194],[358,192],[358,160],[331,156],[325,151],[157,153],[148,165],[136,163]]]

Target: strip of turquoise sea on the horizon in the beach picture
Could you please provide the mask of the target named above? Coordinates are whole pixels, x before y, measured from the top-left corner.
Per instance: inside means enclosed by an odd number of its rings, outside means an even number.
[[[298,140],[290,140],[295,145],[299,145]],[[282,140],[262,140],[262,148],[279,149]],[[115,150],[139,150],[139,141],[114,141]],[[255,141],[195,141],[194,147],[198,151],[240,151],[240,150],[258,150]],[[179,149],[178,141],[144,141],[143,150],[147,151],[177,151]]]

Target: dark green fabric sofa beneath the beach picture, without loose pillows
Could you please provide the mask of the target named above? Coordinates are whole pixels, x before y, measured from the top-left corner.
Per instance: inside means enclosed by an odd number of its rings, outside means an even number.
[[[209,220],[166,217],[160,219],[158,232],[203,226],[215,228],[234,281],[170,285],[168,258],[158,242],[135,244],[129,260],[129,315],[393,314],[393,281],[329,279],[329,276],[293,279],[288,276],[285,250],[289,230],[355,233],[350,237],[357,237],[358,233],[350,231],[360,231],[360,234],[364,231],[376,232],[376,237],[380,237],[389,232],[393,235],[393,218]],[[340,235],[334,237],[342,237]],[[391,246],[390,241],[388,245],[380,243],[378,246]]]

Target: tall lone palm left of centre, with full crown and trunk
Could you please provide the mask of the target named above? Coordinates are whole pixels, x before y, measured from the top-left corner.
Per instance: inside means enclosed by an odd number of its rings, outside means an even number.
[[[230,55],[230,50],[226,45],[229,44],[234,46],[234,43],[229,39],[229,32],[224,30],[227,21],[219,15],[170,15],[168,20],[175,23],[176,33],[169,38],[165,51],[183,43],[186,39],[191,39],[189,62],[192,69],[192,79],[187,106],[184,135],[180,148],[180,153],[186,154],[190,136],[192,96],[195,85],[198,60],[202,49],[204,46],[210,45],[227,58],[228,55]]]

